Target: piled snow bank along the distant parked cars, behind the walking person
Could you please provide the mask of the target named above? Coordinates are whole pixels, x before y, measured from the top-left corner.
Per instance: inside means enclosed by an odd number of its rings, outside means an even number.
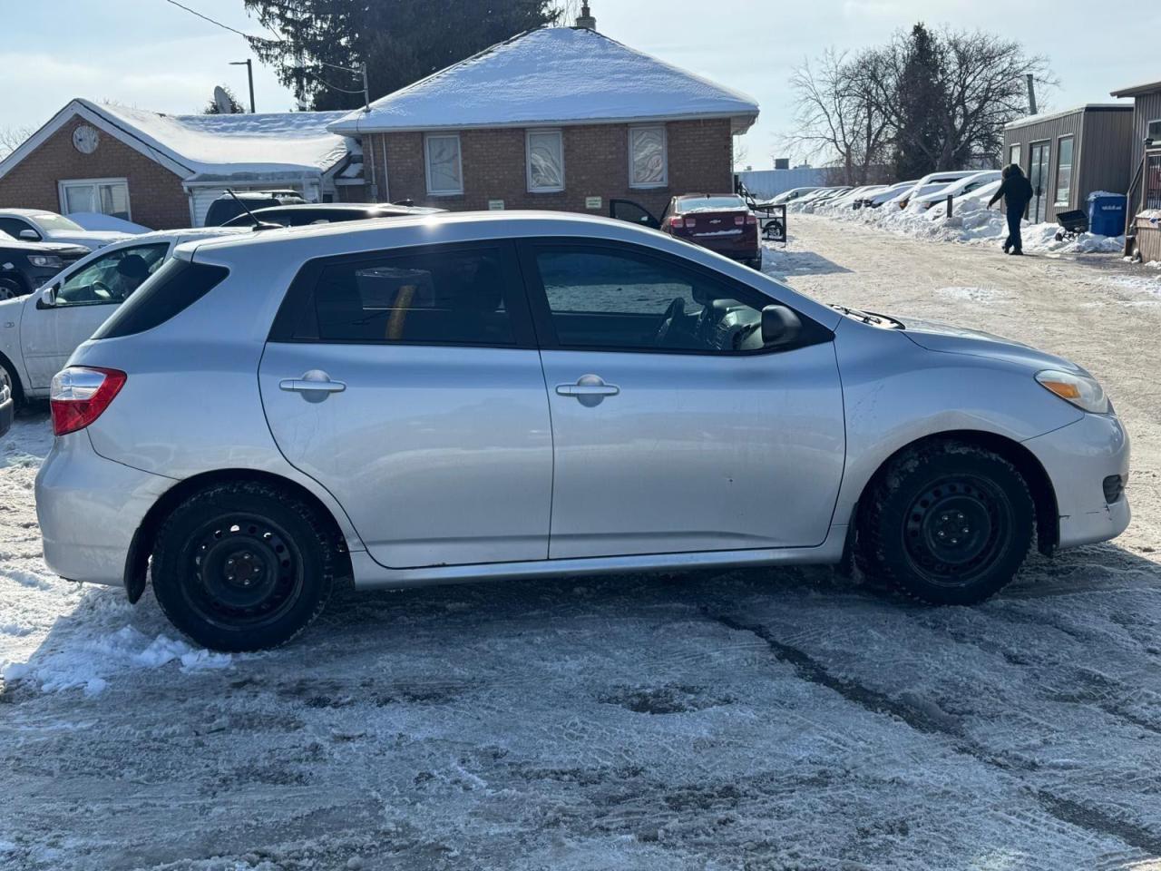
[[[990,188],[990,186],[988,186]],[[987,190],[987,194],[985,194]],[[932,206],[926,211],[917,209],[900,209],[889,203],[878,209],[853,210],[829,203],[807,204],[792,211],[827,215],[842,221],[875,226],[903,236],[938,242],[958,242],[968,244],[1002,245],[1008,236],[1008,221],[998,207],[988,208],[985,196],[990,197],[994,189],[980,188],[972,194],[957,200],[951,217],[946,217],[943,204]],[[1075,239],[1057,242],[1059,224],[1030,224],[1024,222],[1024,250],[1034,253],[1054,254],[1091,254],[1117,253],[1124,250],[1124,236],[1098,236],[1081,233]]]

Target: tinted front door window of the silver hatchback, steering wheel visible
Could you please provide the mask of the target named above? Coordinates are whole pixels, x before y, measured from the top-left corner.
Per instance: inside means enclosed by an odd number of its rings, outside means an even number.
[[[567,348],[758,351],[762,308],[774,303],[635,251],[543,246],[535,262],[556,340]]]

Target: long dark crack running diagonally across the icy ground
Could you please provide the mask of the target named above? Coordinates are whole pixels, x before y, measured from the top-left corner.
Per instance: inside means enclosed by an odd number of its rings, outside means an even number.
[[[996,754],[967,737],[954,717],[924,710],[900,698],[887,696],[873,690],[858,681],[832,675],[827,667],[810,654],[779,641],[765,627],[758,624],[747,624],[727,614],[715,613],[708,606],[702,606],[702,614],[734,632],[748,632],[762,639],[771,649],[774,658],[793,667],[795,674],[808,683],[825,686],[842,696],[848,701],[872,713],[894,717],[902,720],[916,732],[952,739],[957,753],[965,754],[978,762],[1011,772],[1032,772],[1037,766],[1024,760],[1011,758],[1005,754]],[[1151,829],[1126,820],[1117,819],[1101,808],[1082,805],[1072,799],[1055,796],[1047,790],[1024,784],[1027,794],[1040,805],[1045,813],[1069,826],[1102,837],[1115,837],[1127,847],[1142,850],[1151,856],[1161,855],[1161,835]]]

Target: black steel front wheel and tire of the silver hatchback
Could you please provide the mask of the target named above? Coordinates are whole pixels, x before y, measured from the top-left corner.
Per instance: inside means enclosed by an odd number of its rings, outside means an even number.
[[[1008,460],[937,441],[904,452],[877,476],[859,510],[859,567],[936,605],[983,602],[1019,570],[1036,509]]]

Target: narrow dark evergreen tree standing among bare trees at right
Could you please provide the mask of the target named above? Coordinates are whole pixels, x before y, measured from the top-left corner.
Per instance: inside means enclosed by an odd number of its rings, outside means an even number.
[[[936,166],[933,158],[940,153],[945,138],[943,78],[938,39],[918,23],[906,38],[902,70],[895,84],[895,173],[900,179],[917,179],[949,168]]]

